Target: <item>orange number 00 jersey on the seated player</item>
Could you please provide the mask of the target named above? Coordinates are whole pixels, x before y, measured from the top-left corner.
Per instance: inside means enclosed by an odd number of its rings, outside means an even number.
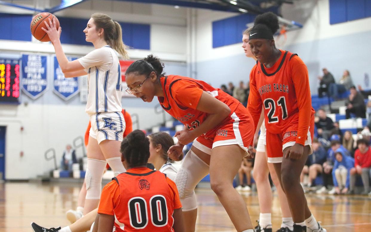
[[[132,168],[113,178],[105,188],[98,213],[114,215],[117,232],[174,231],[172,215],[181,203],[175,183],[164,173]]]

